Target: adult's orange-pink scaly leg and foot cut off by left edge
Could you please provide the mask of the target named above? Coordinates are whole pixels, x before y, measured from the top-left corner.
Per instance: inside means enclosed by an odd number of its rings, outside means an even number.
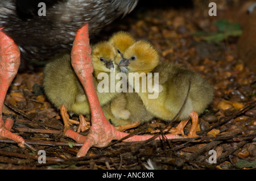
[[[19,146],[24,147],[24,139],[12,132],[10,132],[13,126],[12,119],[6,119],[6,123],[3,122],[2,110],[3,102],[11,82],[18,72],[20,64],[20,52],[19,48],[15,45],[14,41],[5,33],[1,32],[0,28],[0,136],[14,140]]]

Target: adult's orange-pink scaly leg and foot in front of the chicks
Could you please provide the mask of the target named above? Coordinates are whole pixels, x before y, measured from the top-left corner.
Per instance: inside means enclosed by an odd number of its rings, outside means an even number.
[[[92,114],[92,126],[88,136],[79,136],[78,133],[74,133],[72,130],[65,132],[65,135],[74,138],[77,142],[83,142],[82,148],[77,153],[77,157],[84,156],[92,146],[104,147],[107,146],[112,140],[120,140],[121,138],[128,135],[116,131],[114,126],[111,125],[104,116],[101,110],[100,102],[96,94],[96,89],[93,83],[93,65],[92,56],[90,55],[91,49],[89,45],[89,32],[88,24],[85,24],[79,31],[73,42],[73,48],[71,52],[71,64],[75,70],[77,77],[80,79],[82,86],[84,87],[85,93],[88,97],[90,110]],[[124,141],[143,141],[151,138],[152,136],[131,136]],[[169,135],[169,138],[178,138],[176,135]],[[162,138],[159,136],[158,138]]]

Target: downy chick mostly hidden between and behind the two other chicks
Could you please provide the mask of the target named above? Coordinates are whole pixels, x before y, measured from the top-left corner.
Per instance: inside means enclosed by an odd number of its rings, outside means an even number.
[[[114,45],[117,52],[123,57],[123,52],[135,43],[135,39],[130,33],[119,31],[110,37],[109,42]],[[118,64],[119,61],[116,63]],[[123,81],[127,81],[127,79]],[[127,90],[118,94],[110,104],[102,107],[102,111],[106,119],[111,120],[113,125],[126,125],[126,128],[132,128],[133,125],[136,127],[141,124],[141,121],[149,121],[154,117],[146,110],[138,94],[134,91],[128,92]]]

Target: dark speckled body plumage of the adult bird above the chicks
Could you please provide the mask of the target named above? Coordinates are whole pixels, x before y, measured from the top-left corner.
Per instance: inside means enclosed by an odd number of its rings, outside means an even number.
[[[46,16],[39,16],[39,2]],[[76,32],[89,23],[90,36],[134,9],[138,0],[0,0],[0,27],[22,58],[44,60],[71,49]]]

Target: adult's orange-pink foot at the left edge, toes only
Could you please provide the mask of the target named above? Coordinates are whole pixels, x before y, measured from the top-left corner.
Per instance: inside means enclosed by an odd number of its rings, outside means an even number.
[[[10,118],[7,118],[5,123],[3,123],[2,118],[0,119],[1,119],[0,136],[9,138],[10,140],[17,142],[17,144],[20,147],[24,148],[25,140],[21,136],[11,132],[11,128],[13,127],[13,120]]]

